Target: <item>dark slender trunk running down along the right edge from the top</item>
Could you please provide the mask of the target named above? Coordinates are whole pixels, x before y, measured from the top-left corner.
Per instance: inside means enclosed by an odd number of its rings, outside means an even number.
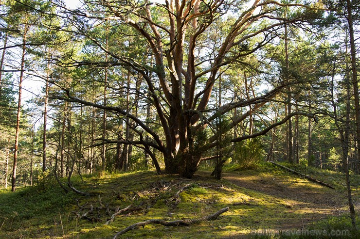
[[[358,86],[358,73],[356,66],[356,49],[355,49],[355,38],[354,38],[354,27],[353,27],[353,16],[352,16],[352,1],[346,0],[347,4],[347,21],[349,26],[350,36],[350,53],[351,53],[351,70],[352,80],[354,87],[354,104],[355,104],[355,118],[356,118],[356,142],[358,150],[358,158],[356,163],[356,172],[359,173],[360,165],[360,104],[359,104],[359,86]]]

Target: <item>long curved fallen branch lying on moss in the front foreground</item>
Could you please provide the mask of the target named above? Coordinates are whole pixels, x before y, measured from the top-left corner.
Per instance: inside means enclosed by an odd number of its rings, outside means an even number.
[[[215,220],[216,218],[218,218],[218,216],[220,216],[222,213],[226,212],[229,210],[229,207],[224,207],[221,210],[218,210],[216,213],[211,214],[209,216],[205,216],[205,217],[201,217],[198,219],[186,219],[186,220],[176,220],[176,221],[171,221],[171,222],[167,222],[161,219],[151,219],[151,220],[147,220],[145,222],[140,222],[140,223],[135,223],[132,224],[128,227],[126,227],[125,229],[121,230],[120,232],[116,233],[115,236],[113,237],[113,239],[116,239],[118,236],[123,235],[124,233],[135,229],[139,226],[145,226],[147,224],[160,224],[163,226],[188,226],[188,225],[192,225],[192,224],[198,224],[204,221],[208,221],[208,220]]]

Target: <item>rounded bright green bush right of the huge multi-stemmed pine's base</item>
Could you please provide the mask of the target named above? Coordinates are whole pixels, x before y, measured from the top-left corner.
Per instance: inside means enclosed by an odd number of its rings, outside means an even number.
[[[232,162],[239,168],[251,168],[263,158],[263,147],[258,139],[248,139],[236,143]]]

